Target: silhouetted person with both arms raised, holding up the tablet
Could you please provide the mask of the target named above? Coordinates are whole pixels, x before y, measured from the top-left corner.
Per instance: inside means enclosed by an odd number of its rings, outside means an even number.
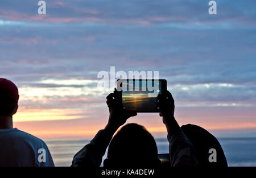
[[[196,167],[195,150],[174,118],[174,98],[170,92],[159,95],[160,116],[168,132],[170,161],[172,167]],[[134,111],[123,109],[120,93],[115,89],[106,97],[109,107],[109,121],[105,129],[82,148],[73,158],[74,167],[100,167],[102,156],[108,148],[104,167],[157,167],[160,165],[158,150],[153,136],[136,123],[123,126],[127,119],[137,115]]]

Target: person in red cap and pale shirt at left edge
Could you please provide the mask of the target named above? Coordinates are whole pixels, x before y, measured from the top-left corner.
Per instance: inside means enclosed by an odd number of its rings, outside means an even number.
[[[18,101],[16,85],[0,78],[0,166],[54,166],[43,140],[13,128]]]

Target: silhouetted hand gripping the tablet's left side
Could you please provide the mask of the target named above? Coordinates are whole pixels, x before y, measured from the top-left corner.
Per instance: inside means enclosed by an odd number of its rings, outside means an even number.
[[[128,118],[137,115],[135,111],[127,111],[123,108],[121,92],[118,92],[117,89],[114,90],[114,93],[110,93],[106,99],[109,107],[109,122],[105,129],[110,127],[116,131]]]

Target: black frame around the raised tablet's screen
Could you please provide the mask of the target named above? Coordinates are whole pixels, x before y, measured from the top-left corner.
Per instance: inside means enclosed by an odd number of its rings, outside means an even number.
[[[160,81],[162,84],[162,94],[166,93],[166,91],[167,91],[167,81],[165,79],[158,79],[158,80],[154,80],[154,79],[118,79],[117,84],[119,82],[121,82],[121,84],[122,84],[122,81],[126,81],[126,82],[127,81]],[[122,92],[122,90],[120,92],[121,92],[121,98],[122,98],[123,92]],[[160,110],[159,109],[156,109],[155,111],[137,110],[136,112],[137,113],[159,113]]]

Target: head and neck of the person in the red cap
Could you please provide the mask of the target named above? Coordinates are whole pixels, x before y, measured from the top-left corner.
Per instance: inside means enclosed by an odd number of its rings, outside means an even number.
[[[19,91],[16,85],[0,78],[0,129],[13,127],[13,115],[18,110]]]

